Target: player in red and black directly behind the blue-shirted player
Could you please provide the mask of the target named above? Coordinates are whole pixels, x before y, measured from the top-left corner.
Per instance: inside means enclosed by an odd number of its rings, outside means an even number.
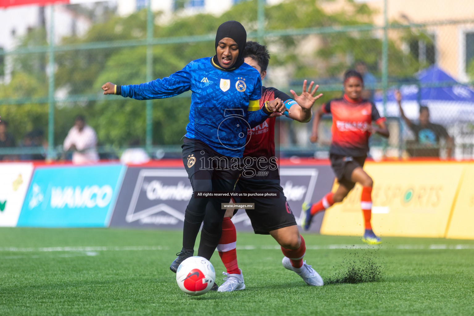
[[[245,62],[260,72],[261,78],[266,75],[266,68],[270,55],[264,45],[256,42],[247,42],[244,51]],[[303,92],[300,96],[291,90],[293,99],[286,93],[275,88],[262,87],[262,98],[260,108],[281,108],[281,103],[288,108],[288,116],[300,122],[308,122],[311,119],[311,107],[322,94],[315,96],[318,85],[314,87],[314,82],[310,83],[307,90],[307,81],[303,83]],[[282,110],[284,111],[284,109]],[[272,159],[275,159],[274,141],[275,118],[268,118],[259,126],[248,130],[247,143],[244,151],[244,164],[253,161],[253,164],[246,164],[247,168],[242,172],[237,181],[236,191],[274,191],[278,192],[278,199],[269,198],[249,198],[240,199],[237,202],[255,203],[255,209],[247,209],[247,215],[252,222],[255,234],[272,235],[280,244],[284,254],[283,266],[295,271],[301,278],[312,286],[323,285],[323,280],[318,272],[314,271],[310,265],[303,262],[306,246],[301,237],[295,217],[286,202],[283,188],[280,186],[280,176],[276,163],[272,167]],[[258,160],[257,160],[258,159]],[[274,160],[276,162],[276,159]],[[268,168],[267,168],[268,167]],[[265,175],[258,175],[258,171],[268,171]],[[236,228],[230,220],[237,210],[228,209],[222,222],[222,235],[219,240],[217,250],[224,263],[227,272],[226,280],[218,289],[219,292],[230,292],[245,289],[242,270],[237,266],[236,253]]]

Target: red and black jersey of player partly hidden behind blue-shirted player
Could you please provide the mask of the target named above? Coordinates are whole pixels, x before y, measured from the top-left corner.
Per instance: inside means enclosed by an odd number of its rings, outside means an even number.
[[[290,108],[296,101],[288,94],[273,87],[262,87],[262,97],[260,98],[260,108],[266,101],[276,98],[281,99],[286,108]],[[247,129],[247,143],[244,150],[244,157],[273,157],[275,155],[275,117],[267,118],[262,124],[252,129]]]

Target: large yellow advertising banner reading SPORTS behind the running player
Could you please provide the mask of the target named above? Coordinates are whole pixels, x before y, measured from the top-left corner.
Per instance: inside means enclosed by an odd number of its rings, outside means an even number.
[[[372,227],[381,236],[445,237],[465,163],[368,162]],[[362,235],[361,186],[324,215],[321,234]]]

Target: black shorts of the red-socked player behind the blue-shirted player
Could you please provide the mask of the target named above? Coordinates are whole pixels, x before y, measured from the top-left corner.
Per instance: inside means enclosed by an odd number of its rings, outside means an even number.
[[[235,199],[236,203],[255,203],[255,209],[246,209],[255,234],[269,235],[271,230],[296,225],[295,216],[286,201],[280,181],[248,181],[241,177],[237,181],[236,191],[275,191],[279,193],[279,198]],[[237,210],[234,211],[234,214],[236,212]]]

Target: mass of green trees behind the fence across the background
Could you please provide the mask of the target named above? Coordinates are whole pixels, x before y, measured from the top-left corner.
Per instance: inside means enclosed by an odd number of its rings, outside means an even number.
[[[265,29],[283,30],[306,27],[344,27],[349,25],[372,25],[374,12],[364,3],[347,0],[346,6],[337,12],[327,13],[320,0],[287,0],[265,6]],[[76,8],[76,11],[81,11]],[[87,10],[86,10],[87,11]],[[87,11],[86,14],[92,14]],[[81,11],[82,12],[82,11]],[[108,11],[109,12],[109,11]],[[143,40],[146,38],[146,10],[128,17],[104,15],[103,21],[94,24],[82,36],[68,36],[62,45],[87,45],[90,42]],[[155,12],[155,21],[162,18]],[[154,36],[213,35],[219,24],[226,20],[241,21],[249,34],[257,31],[257,0],[241,1],[220,17],[207,14],[193,16],[175,15],[167,25],[156,24]],[[403,39],[403,38],[402,38]],[[380,75],[382,41],[376,32],[335,32],[319,35],[281,36],[265,38],[272,58],[270,67],[288,66],[292,69],[290,79],[316,79],[340,76],[355,60],[363,60],[371,70]],[[21,46],[46,45],[46,32],[38,29],[31,32]],[[215,54],[214,42],[179,43],[155,45],[153,47],[153,77],[163,78],[182,69],[191,60]],[[389,70],[393,76],[410,76],[419,70],[419,63],[401,50],[401,42],[389,42]],[[102,144],[125,146],[134,139],[145,140],[145,104],[132,99],[110,97],[91,101],[91,95],[100,95],[100,86],[106,81],[116,84],[132,84],[146,81],[146,46],[117,47],[108,49],[78,49],[62,51],[55,55],[56,90],[74,99],[56,108],[55,139],[60,144],[73,125],[74,117],[83,114],[98,133]],[[15,58],[14,75],[11,82],[3,85],[0,98],[46,96],[47,77],[45,65],[47,54],[24,54]],[[270,68],[271,69],[271,68]],[[25,84],[27,89],[19,89]],[[282,87],[279,87],[282,88]],[[325,98],[339,94],[325,93]],[[154,100],[153,139],[154,144],[179,144],[185,133],[189,112],[189,94],[184,97]],[[9,107],[7,110],[6,108]],[[31,107],[34,107],[32,104]],[[15,127],[15,135],[22,137],[29,129],[46,127],[47,106],[37,105],[28,115],[27,106],[2,106],[10,117],[21,117],[21,127]],[[41,115],[40,115],[41,114]],[[42,118],[39,118],[42,117]],[[12,128],[13,129],[13,128]],[[22,134],[23,133],[23,134]]]

